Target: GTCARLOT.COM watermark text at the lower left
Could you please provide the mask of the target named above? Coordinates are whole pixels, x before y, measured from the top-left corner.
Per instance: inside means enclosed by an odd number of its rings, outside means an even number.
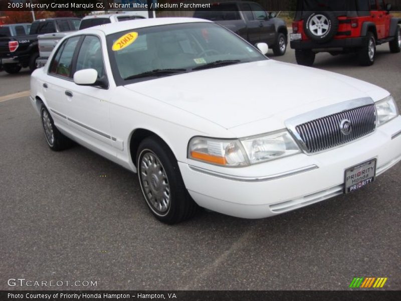
[[[60,287],[60,286],[97,286],[97,280],[31,280],[25,278],[10,278],[7,280],[9,286],[28,287]]]

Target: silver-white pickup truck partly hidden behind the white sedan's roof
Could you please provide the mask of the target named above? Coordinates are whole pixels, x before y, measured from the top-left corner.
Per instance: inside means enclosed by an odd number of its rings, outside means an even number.
[[[81,23],[79,27],[76,28],[76,30],[82,30],[102,24],[145,18],[148,18],[147,11],[118,12],[108,15],[91,15],[82,18]],[[39,58],[36,60],[36,65],[38,68],[45,66],[47,59],[52,53],[54,47],[56,47],[57,43],[59,43],[61,39],[72,32],[73,31],[44,34],[38,36]]]

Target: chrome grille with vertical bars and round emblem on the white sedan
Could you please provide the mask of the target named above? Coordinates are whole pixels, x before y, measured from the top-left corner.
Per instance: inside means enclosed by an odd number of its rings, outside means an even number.
[[[351,124],[349,134],[340,128],[346,119]],[[369,104],[299,124],[295,129],[307,152],[317,153],[363,137],[373,132],[375,127],[376,107]]]

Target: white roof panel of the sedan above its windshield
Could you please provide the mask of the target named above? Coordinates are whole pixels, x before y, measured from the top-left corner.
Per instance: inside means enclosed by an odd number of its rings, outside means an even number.
[[[151,18],[151,19],[136,19],[131,21],[124,21],[118,23],[110,23],[104,25],[98,25],[90,27],[87,29],[80,30],[80,34],[85,32],[90,32],[91,30],[98,30],[103,32],[106,36],[130,29],[144,28],[158,25],[168,25],[168,24],[180,24],[180,23],[195,23],[195,22],[205,22],[213,23],[212,21],[197,19],[197,18]]]

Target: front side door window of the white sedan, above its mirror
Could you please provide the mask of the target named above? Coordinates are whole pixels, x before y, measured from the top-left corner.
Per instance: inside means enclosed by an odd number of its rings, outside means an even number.
[[[82,69],[95,69],[99,78],[104,75],[102,43],[98,37],[86,36],[82,42],[75,71]]]

